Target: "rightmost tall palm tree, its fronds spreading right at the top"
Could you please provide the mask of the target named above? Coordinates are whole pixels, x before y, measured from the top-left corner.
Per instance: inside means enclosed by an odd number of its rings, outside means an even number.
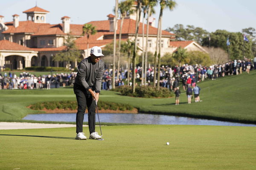
[[[158,34],[157,39],[159,39],[159,51],[158,51],[158,74],[157,74],[157,90],[160,89],[160,58],[161,58],[161,37],[162,37],[162,18],[163,18],[163,9],[169,8],[171,11],[175,8],[177,3],[174,0],[161,0],[160,1],[160,14],[158,20]],[[157,51],[157,50],[156,50]]]

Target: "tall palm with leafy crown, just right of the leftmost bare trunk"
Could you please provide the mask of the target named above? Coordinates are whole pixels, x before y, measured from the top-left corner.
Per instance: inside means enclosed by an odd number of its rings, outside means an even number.
[[[120,70],[122,25],[123,25],[124,19],[127,16],[127,14],[134,13],[134,10],[132,9],[133,3],[134,3],[134,0],[126,0],[126,1],[120,2],[118,5],[120,18],[121,18],[121,24],[120,24],[120,31],[119,31],[119,43],[118,43],[117,77],[119,77],[119,70]]]

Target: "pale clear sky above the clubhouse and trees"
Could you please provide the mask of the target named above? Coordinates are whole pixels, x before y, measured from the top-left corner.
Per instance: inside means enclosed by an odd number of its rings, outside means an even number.
[[[119,0],[120,1],[120,0]],[[209,32],[224,29],[241,32],[243,28],[256,28],[255,0],[175,0],[177,7],[173,11],[163,11],[162,28],[175,24],[193,25]],[[72,24],[84,24],[90,21],[107,20],[113,14],[115,0],[0,0],[0,15],[5,22],[12,21],[12,15],[20,15],[20,21],[26,20],[23,11],[36,5],[47,11],[47,23],[62,23],[61,17],[71,17]],[[158,19],[160,5],[155,7]],[[156,23],[157,26],[157,23]]]

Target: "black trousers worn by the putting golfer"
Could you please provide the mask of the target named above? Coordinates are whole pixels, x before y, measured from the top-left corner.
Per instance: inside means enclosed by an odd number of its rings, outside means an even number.
[[[83,132],[84,112],[88,108],[88,125],[90,133],[95,132],[96,102],[92,95],[84,87],[74,83],[74,93],[77,100],[76,133]]]

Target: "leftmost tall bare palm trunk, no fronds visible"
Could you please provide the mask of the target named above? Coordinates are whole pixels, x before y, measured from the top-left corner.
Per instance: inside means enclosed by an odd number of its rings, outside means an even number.
[[[118,0],[116,0],[115,8],[115,18],[114,18],[114,46],[113,46],[113,77],[112,77],[112,88],[115,89],[116,83],[116,27],[117,27],[117,9],[118,9]]]

